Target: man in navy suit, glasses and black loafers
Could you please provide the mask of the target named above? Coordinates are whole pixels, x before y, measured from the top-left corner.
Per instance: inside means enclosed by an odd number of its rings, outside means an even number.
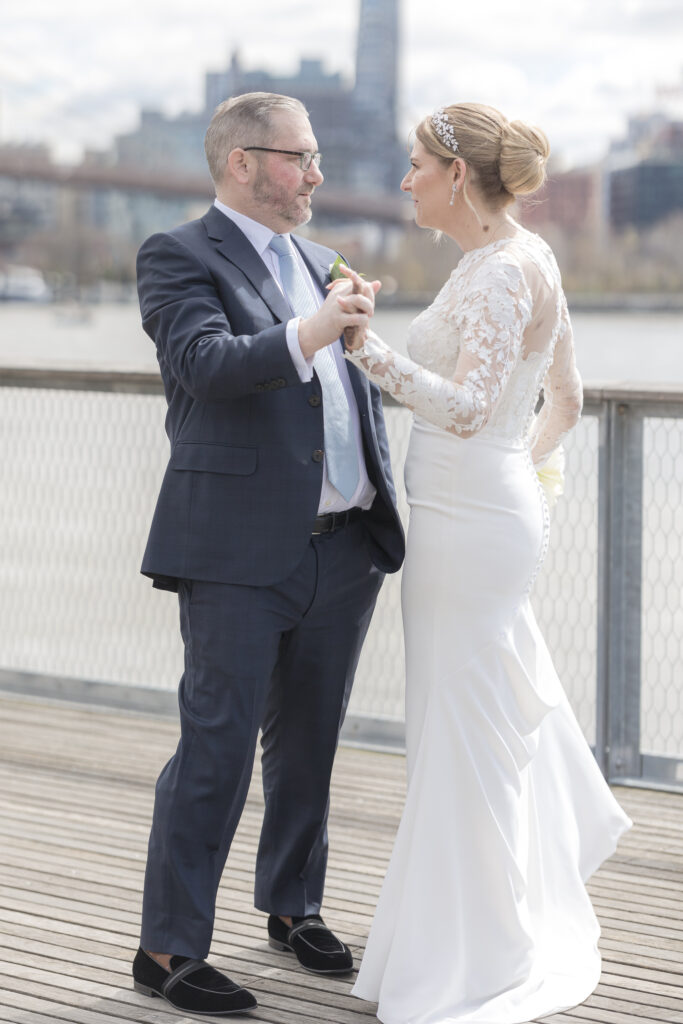
[[[222,1016],[256,1006],[204,957],[259,729],[255,905],[270,945],[315,973],[352,968],[319,915],[330,777],[403,537],[379,391],[339,341],[364,317],[326,292],[337,254],[290,236],[323,181],[304,108],[226,100],[206,153],[214,205],[138,256],[171,441],[142,572],[178,592],[185,663],[133,977],[185,1013]]]

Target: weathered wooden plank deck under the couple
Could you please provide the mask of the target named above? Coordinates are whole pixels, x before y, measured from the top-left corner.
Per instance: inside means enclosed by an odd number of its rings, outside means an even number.
[[[189,1024],[132,990],[156,775],[168,720],[0,695],[0,1024]],[[359,956],[403,793],[400,757],[340,751],[333,790],[328,922]],[[683,799],[621,790],[635,821],[591,883],[603,976],[553,1024],[683,1022]],[[245,1018],[362,1024],[348,980],[321,981],[270,950],[252,907],[258,778],[219,895],[212,962],[258,995]],[[197,1019],[197,1018],[195,1018]]]

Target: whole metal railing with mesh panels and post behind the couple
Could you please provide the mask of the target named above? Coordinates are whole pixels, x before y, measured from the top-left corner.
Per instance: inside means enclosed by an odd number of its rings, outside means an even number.
[[[0,687],[174,708],[174,599],[138,575],[167,461],[156,374],[0,369]],[[411,416],[387,403],[401,514]],[[589,386],[533,595],[613,781],[683,787],[683,392]],[[399,574],[382,590],[350,741],[402,742]]]

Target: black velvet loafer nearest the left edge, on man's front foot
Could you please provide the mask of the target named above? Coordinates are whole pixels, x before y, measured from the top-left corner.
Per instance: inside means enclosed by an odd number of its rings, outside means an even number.
[[[138,949],[133,961],[133,988],[143,995],[161,995],[176,1010],[202,1017],[227,1017],[256,1007],[256,999],[206,961],[171,956],[171,973]]]

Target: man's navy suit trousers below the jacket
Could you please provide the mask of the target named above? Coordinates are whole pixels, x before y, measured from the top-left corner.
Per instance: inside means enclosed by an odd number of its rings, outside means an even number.
[[[181,581],[180,741],[157,782],[142,947],[203,958],[262,729],[255,905],[316,913],[334,755],[383,573],[362,520],[311,538],[295,572],[250,587]]]

